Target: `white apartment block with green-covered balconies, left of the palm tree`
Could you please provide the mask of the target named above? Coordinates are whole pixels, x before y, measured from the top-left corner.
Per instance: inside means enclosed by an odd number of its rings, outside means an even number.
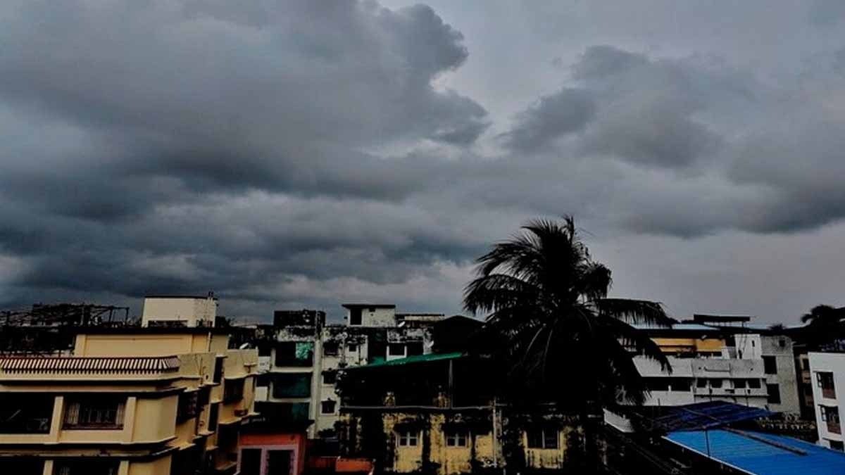
[[[293,420],[311,420],[308,437],[330,438],[340,416],[337,370],[431,352],[432,325],[443,314],[397,314],[392,304],[347,303],[346,323],[327,325],[313,310],[274,315],[275,342],[259,358],[257,401]]]

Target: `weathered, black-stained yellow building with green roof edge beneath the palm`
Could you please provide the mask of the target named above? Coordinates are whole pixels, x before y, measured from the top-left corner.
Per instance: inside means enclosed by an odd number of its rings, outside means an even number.
[[[581,433],[577,418],[495,406],[484,364],[443,353],[346,369],[342,456],[373,460],[380,472],[458,475],[502,468],[519,450],[533,472],[566,467]]]

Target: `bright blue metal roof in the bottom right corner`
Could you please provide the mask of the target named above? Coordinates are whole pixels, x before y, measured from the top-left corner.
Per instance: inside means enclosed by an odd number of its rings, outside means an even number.
[[[716,429],[673,432],[664,439],[704,456],[709,445],[713,459],[756,475],[845,473],[845,453],[782,435]]]

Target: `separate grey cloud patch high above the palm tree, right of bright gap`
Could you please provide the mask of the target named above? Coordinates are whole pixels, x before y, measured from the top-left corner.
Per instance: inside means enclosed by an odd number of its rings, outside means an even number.
[[[694,63],[654,61],[613,46],[591,46],[572,68],[580,88],[544,96],[504,135],[514,150],[586,131],[584,155],[654,167],[688,167],[714,153],[720,138],[694,115],[708,105],[716,75]]]

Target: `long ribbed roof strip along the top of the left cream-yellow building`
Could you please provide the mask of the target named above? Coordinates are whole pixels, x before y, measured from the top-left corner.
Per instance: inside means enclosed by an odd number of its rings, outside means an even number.
[[[179,369],[179,358],[0,358],[4,373],[153,373]]]

